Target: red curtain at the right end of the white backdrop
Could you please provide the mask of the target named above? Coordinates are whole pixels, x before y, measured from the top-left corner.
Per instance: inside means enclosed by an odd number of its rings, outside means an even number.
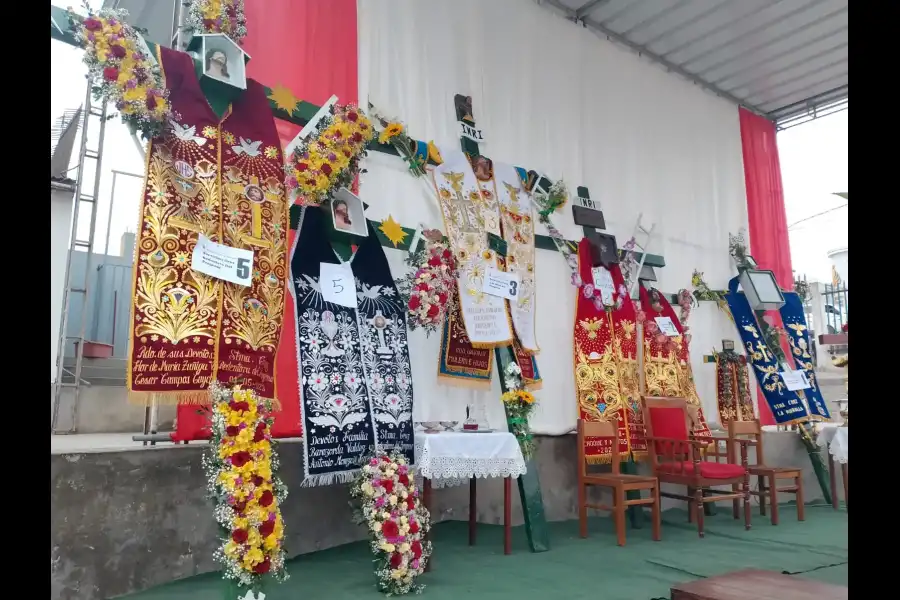
[[[750,253],[760,268],[770,269],[782,289],[794,287],[791,245],[788,240],[781,163],[775,143],[775,124],[743,108],[740,110],[741,145],[744,151],[744,180],[747,188],[747,220],[750,224]],[[769,312],[781,326],[781,315]],[[790,350],[785,346],[787,355]],[[760,421],[774,425],[769,405],[757,389]]]

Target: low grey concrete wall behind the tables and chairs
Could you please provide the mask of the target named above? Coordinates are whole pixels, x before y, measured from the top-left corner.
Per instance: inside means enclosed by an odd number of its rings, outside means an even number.
[[[805,468],[807,502],[820,500],[796,434],[767,433],[765,444],[770,464]],[[279,448],[281,476],[290,490],[282,510],[291,556],[363,539],[366,532],[351,523],[346,485],[300,487],[301,450],[289,442]],[[218,530],[205,498],[201,452],[202,447],[189,445],[52,455],[51,597],[110,598],[214,570]],[[551,521],[577,516],[575,460],[575,436],[538,438],[537,463]],[[513,490],[513,524],[518,525],[522,513]],[[684,506],[663,499],[663,508],[679,505]],[[433,512],[435,521],[467,519],[467,488],[435,490]],[[783,513],[783,519],[793,516]],[[479,522],[500,524],[502,517],[501,480],[479,480]],[[714,518],[730,518],[730,511]],[[754,521],[762,522],[757,511]]]

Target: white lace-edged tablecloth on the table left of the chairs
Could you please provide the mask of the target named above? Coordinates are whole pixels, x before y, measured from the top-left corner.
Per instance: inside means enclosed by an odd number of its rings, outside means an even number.
[[[490,433],[416,433],[418,474],[434,487],[467,483],[472,477],[518,477],[526,472],[516,437]]]

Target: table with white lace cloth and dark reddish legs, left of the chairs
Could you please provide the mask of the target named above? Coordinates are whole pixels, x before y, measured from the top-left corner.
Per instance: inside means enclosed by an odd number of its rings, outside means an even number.
[[[432,480],[453,485],[469,480],[469,545],[475,545],[478,478],[503,478],[503,551],[512,554],[512,479],[526,472],[516,437],[506,431],[416,433],[416,462],[425,507],[431,512]],[[434,560],[428,562],[430,570]]]

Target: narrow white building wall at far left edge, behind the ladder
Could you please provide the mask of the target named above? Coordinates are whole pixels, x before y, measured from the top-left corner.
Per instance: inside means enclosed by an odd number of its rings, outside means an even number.
[[[50,383],[56,381],[56,350],[72,228],[72,200],[71,189],[50,188]]]

